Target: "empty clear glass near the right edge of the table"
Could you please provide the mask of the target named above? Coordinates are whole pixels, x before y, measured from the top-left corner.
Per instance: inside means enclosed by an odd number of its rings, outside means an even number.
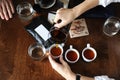
[[[103,32],[107,36],[114,36],[120,30],[120,19],[118,17],[109,17],[103,26]]]

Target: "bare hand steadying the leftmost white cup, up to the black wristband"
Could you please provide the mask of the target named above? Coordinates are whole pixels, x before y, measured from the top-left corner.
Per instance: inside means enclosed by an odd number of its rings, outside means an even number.
[[[69,65],[63,60],[62,56],[60,57],[61,64],[57,63],[52,57],[49,55],[49,61],[52,65],[52,68],[56,70],[61,76],[63,76],[66,80],[75,80],[76,75],[73,73],[69,67]]]

